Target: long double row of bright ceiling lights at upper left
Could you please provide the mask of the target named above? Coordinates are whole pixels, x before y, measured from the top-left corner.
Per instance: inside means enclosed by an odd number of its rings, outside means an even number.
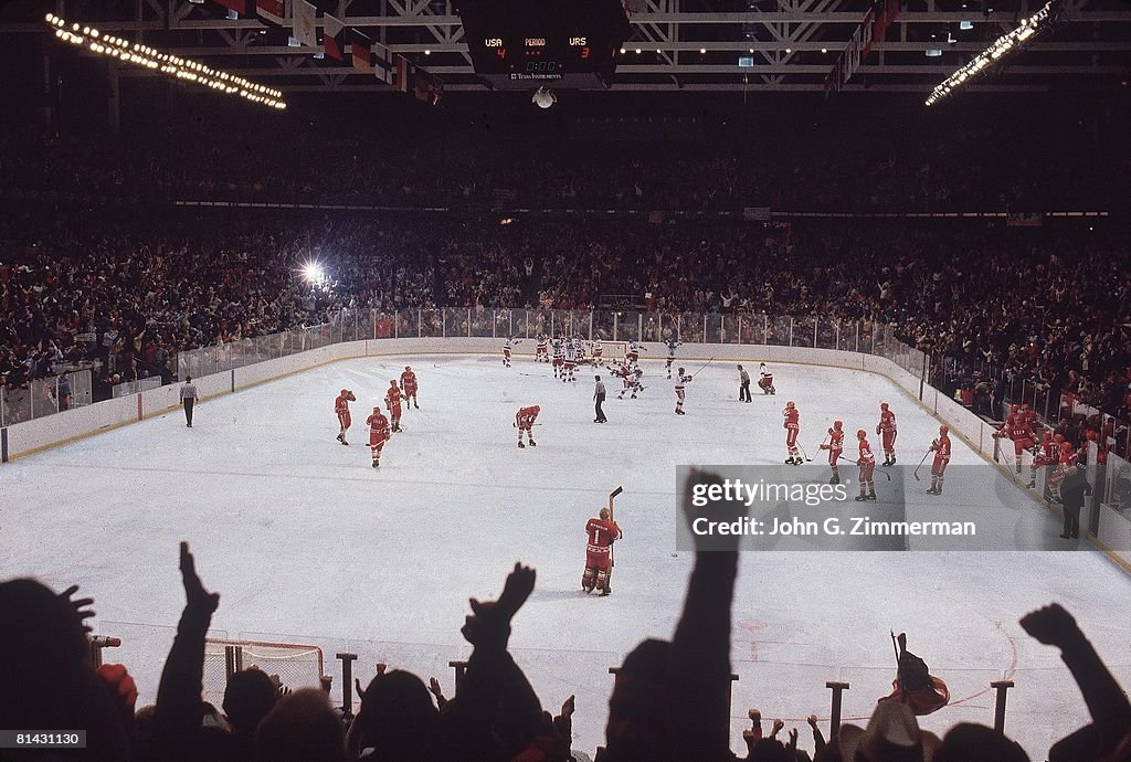
[[[126,63],[159,71],[167,77],[195,83],[225,95],[235,95],[251,103],[260,103],[270,109],[286,109],[283,93],[279,90],[248,81],[243,77],[230,75],[207,67],[199,61],[189,61],[176,55],[163,53],[159,50],[130,42],[81,24],[68,24],[66,19],[54,14],[46,15],[46,21],[55,31],[55,37],[62,42],[86,47],[100,55],[115,58]]]

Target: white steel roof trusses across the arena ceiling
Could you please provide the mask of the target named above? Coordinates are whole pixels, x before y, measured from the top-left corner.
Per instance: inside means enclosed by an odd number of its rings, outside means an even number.
[[[996,9],[992,0],[908,3],[886,38],[862,57],[843,90],[930,93],[1039,5],[1036,0],[1004,0],[1002,5],[1009,2],[1016,7]],[[631,36],[620,55],[611,88],[614,93],[822,92],[870,3],[633,0],[630,5]],[[68,6],[75,6],[74,17],[67,16]],[[106,6],[123,12],[114,17]],[[294,46],[287,26],[227,18],[215,3],[136,0],[106,6],[100,9],[98,18],[86,19],[81,11],[89,3],[60,0],[55,12],[284,93],[392,92],[371,73],[319,60],[316,55],[321,47]],[[439,76],[446,90],[486,89],[473,70],[464,27],[451,0],[339,0],[333,10],[347,26]],[[322,25],[321,16],[318,25]],[[46,34],[49,29],[43,24],[8,23],[0,24],[0,32]],[[1129,66],[1131,10],[1119,0],[1065,0],[1054,29],[970,89],[1039,92],[1065,78],[1125,79]],[[119,68],[116,75],[154,76],[128,68]]]

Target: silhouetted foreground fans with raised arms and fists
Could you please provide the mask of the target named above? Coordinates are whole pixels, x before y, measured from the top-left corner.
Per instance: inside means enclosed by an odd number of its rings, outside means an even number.
[[[706,479],[718,479],[703,475]],[[690,482],[689,482],[690,484]],[[691,505],[690,496],[683,501]],[[720,503],[720,520],[745,513],[740,502]],[[694,516],[698,516],[696,513]],[[694,516],[688,510],[690,522]],[[1030,757],[1002,733],[962,722],[941,738],[920,728],[926,713],[912,696],[910,679],[925,673],[916,658],[900,657],[900,687],[881,700],[865,727],[832,727],[809,718],[812,746],[797,728],[779,738],[785,722],[767,734],[751,711],[746,748],[731,750],[731,607],[739,572],[737,536],[728,548],[699,551],[681,618],[670,641],[641,641],[623,660],[608,699],[604,746],[596,762],[1022,762]],[[558,713],[544,708],[508,652],[511,625],[521,626],[523,604],[535,571],[516,564],[494,601],[470,601],[460,632],[472,646],[466,673],[449,699],[438,683],[378,667],[362,687],[361,709],[336,710],[316,687],[277,684],[258,669],[230,677],[222,707],[201,699],[205,637],[221,596],[196,570],[188,545],[180,566],[185,606],[162,670],[154,705],[137,707],[138,685],[129,665],[90,658],[86,620],[89,598],[77,587],[57,592],[29,579],[0,582],[0,717],[14,728],[86,730],[85,752],[0,751],[0,760],[64,759],[114,762],[567,762],[588,760],[572,746],[575,696]],[[204,563],[207,578],[208,562]],[[516,621],[517,618],[517,621]],[[1051,605],[1020,620],[1044,646],[1060,649],[1091,722],[1057,741],[1050,762],[1126,762],[1131,759],[1131,703],[1072,616]],[[906,665],[906,672],[905,672]],[[152,690],[152,689],[150,689]],[[772,702],[787,685],[761,685]],[[1063,708],[1062,708],[1063,709]],[[827,725],[826,738],[821,726]],[[811,751],[810,751],[811,750]],[[587,750],[586,750],[587,751]]]

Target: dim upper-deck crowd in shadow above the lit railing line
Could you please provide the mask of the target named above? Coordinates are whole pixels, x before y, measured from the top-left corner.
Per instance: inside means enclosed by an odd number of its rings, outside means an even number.
[[[647,141],[663,131],[659,124],[595,121],[528,141],[529,150],[515,149],[520,136],[487,132],[476,140],[464,135],[466,128],[430,139],[390,125],[377,140],[372,133],[353,137],[295,122],[285,127],[285,155],[271,133],[200,119],[173,120],[170,127],[156,120],[129,142],[12,129],[0,135],[0,189],[49,202],[1039,213],[1110,209],[1131,188],[1125,142],[1102,140],[1083,125],[1071,140],[1053,131],[1019,133],[1002,150],[1001,124],[953,129],[927,122],[883,141],[860,136],[866,149],[845,151],[838,140],[819,135],[793,150],[789,144],[767,149],[767,142],[783,139],[768,135],[736,148],[713,139],[728,129],[726,122],[709,121],[668,124],[668,145]],[[645,142],[595,139],[615,132],[639,133]],[[404,148],[390,151],[389,141]]]

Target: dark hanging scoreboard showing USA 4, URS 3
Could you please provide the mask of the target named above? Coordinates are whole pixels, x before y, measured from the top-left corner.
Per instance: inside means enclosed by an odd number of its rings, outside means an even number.
[[[459,0],[475,73],[497,89],[608,87],[629,34],[621,0]]]

